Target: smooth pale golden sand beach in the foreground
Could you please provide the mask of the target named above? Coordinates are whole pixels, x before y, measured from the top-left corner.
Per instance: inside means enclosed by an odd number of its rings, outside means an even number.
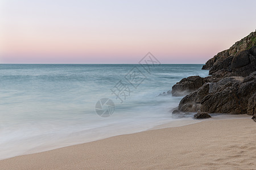
[[[207,120],[0,161],[0,169],[256,169],[256,123]]]

